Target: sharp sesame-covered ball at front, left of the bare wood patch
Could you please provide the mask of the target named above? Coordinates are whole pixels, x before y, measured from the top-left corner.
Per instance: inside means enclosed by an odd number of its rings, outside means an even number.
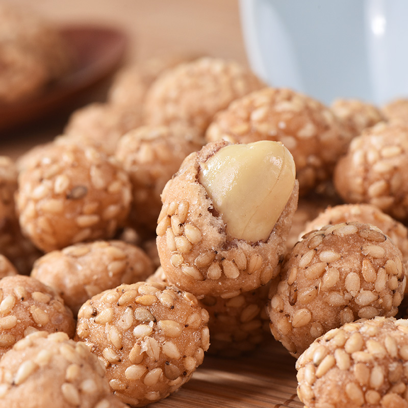
[[[105,363],[114,393],[132,406],[167,397],[189,380],[210,345],[208,312],[191,293],[139,282],[88,300],[77,339]]]

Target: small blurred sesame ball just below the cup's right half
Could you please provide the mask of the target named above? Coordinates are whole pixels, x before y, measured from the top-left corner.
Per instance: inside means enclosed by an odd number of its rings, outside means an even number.
[[[360,99],[336,99],[330,109],[342,120],[352,137],[385,120],[379,108]]]

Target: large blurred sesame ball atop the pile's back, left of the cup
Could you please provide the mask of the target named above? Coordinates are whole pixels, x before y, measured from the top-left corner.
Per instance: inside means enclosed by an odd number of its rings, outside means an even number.
[[[199,58],[163,72],[145,101],[146,124],[186,123],[205,132],[213,116],[264,84],[235,61]]]

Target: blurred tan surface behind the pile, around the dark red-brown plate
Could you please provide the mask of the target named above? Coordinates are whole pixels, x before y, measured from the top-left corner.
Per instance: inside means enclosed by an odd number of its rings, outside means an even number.
[[[35,8],[57,24],[102,25],[123,31],[129,43],[122,64],[163,54],[182,54],[222,57],[248,65],[238,0],[13,0],[13,3]],[[78,100],[77,107],[103,100],[110,79]],[[0,131],[0,154],[17,156],[32,145],[55,137],[63,129],[67,113],[47,117],[24,129]]]

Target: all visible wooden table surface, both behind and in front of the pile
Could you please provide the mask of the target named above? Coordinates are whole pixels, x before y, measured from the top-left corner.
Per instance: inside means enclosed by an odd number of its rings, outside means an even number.
[[[13,1],[35,5],[61,23],[100,23],[124,30],[130,38],[127,60],[140,61],[165,52],[231,58],[247,64],[236,0]],[[103,99],[104,91],[90,99]],[[16,158],[30,147],[52,140],[66,120],[67,114],[0,134],[0,155]],[[269,345],[243,358],[207,355],[182,389],[149,406],[301,408],[296,384],[295,360],[271,337]]]

